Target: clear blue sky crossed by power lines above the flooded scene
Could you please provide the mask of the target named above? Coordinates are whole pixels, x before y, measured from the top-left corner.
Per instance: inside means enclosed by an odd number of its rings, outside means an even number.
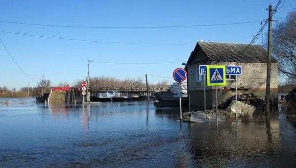
[[[0,21],[72,26],[173,26],[225,24],[263,21],[269,4],[278,0],[3,0]],[[286,0],[284,6],[296,4]],[[291,7],[283,7],[293,8]],[[278,11],[274,18],[286,17],[291,10]],[[282,20],[282,19],[278,19]],[[137,78],[146,73],[172,77],[173,70],[184,67],[198,40],[245,43],[260,29],[260,23],[178,27],[178,28],[71,28],[48,27],[0,22],[0,31],[59,38],[127,43],[165,43],[189,45],[136,45],[69,41],[31,37],[0,32],[0,38],[26,77],[0,46],[0,86],[9,89],[36,86],[44,74],[53,84],[83,79],[87,60],[119,63],[178,62],[171,64],[105,64],[90,63],[90,76],[106,75]],[[267,31],[267,29],[265,29]],[[261,37],[256,44],[261,44]],[[164,78],[148,76],[149,82]],[[173,78],[169,78],[173,82]]]

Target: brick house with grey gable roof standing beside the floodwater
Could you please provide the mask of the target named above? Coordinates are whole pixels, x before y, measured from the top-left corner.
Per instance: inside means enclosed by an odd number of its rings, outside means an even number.
[[[238,95],[253,93],[255,96],[265,97],[267,51],[260,45],[247,46],[247,44],[216,42],[197,43],[185,67],[188,73],[190,106],[204,106],[204,78],[199,74],[199,65],[242,66],[242,75],[237,76]],[[276,104],[278,101],[277,64],[276,59],[271,57],[271,98]],[[234,88],[235,76],[226,75],[226,86],[218,86],[218,103],[235,96]],[[215,102],[215,86],[206,86],[206,107],[211,109]]]

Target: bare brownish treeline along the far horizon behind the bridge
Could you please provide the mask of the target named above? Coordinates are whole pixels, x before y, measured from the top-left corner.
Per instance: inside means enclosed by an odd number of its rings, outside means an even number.
[[[81,87],[81,83],[86,81],[85,79],[78,79],[73,82],[73,84],[68,82],[60,82],[56,85],[56,87],[64,87],[67,84],[70,84],[70,87]],[[124,88],[124,87],[146,87],[146,79],[144,77],[138,77],[137,79],[126,78],[126,79],[118,79],[111,76],[94,76],[89,78],[90,87],[103,87],[103,88]],[[169,80],[162,80],[158,83],[150,83],[148,82],[149,87],[162,87],[168,86]],[[0,97],[28,97],[28,96],[41,96],[42,95],[42,86],[43,93],[49,93],[50,88],[53,87],[50,80],[44,79],[40,80],[37,83],[37,86],[31,87],[23,87],[19,90],[16,88],[12,88],[11,90],[6,87],[0,87]],[[28,91],[29,90],[29,91]],[[29,95],[28,95],[29,94]]]

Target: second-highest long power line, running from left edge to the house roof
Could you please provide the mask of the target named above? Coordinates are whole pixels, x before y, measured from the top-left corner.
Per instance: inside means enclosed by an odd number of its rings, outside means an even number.
[[[98,40],[84,40],[84,39],[71,39],[71,38],[62,38],[62,37],[51,37],[51,36],[40,36],[33,34],[24,34],[24,33],[16,33],[9,31],[0,31],[1,33],[9,33],[9,34],[18,34],[24,36],[32,36],[32,37],[42,37],[49,39],[59,39],[59,40],[72,40],[72,41],[82,41],[82,42],[96,42],[96,43],[114,43],[114,44],[134,44],[134,45],[195,45],[196,43],[129,43],[129,42],[112,42],[112,41],[98,41]]]

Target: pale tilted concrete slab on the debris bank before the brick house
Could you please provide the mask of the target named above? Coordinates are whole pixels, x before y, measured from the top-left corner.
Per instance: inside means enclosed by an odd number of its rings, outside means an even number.
[[[248,105],[246,103],[242,103],[240,101],[237,102],[237,115],[249,115],[253,116],[256,107]],[[230,105],[226,108],[226,111],[235,114],[235,100],[232,100]]]

